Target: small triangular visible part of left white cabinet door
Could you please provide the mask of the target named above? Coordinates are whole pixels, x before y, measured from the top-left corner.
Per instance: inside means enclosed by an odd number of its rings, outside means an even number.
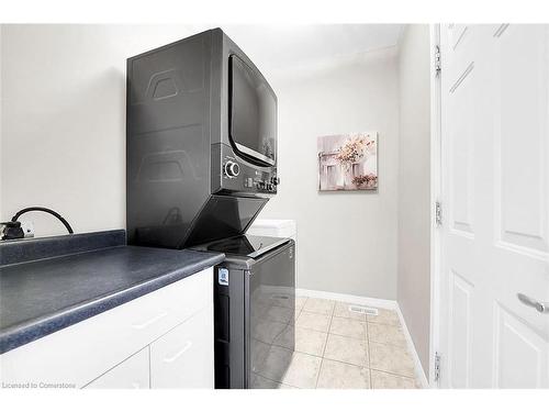
[[[147,389],[149,388],[148,346],[122,364],[101,375],[86,388],[91,389]]]

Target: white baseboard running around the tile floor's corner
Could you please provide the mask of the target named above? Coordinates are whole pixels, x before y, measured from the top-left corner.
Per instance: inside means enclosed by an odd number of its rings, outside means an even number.
[[[311,290],[311,289],[295,289],[295,294],[307,298],[338,300],[341,302],[348,302],[348,303],[355,303],[355,304],[361,304],[366,307],[374,307],[381,309],[390,309],[396,311],[402,324],[404,336],[406,338],[408,352],[411,353],[412,358],[414,359],[414,369],[416,379],[418,380],[422,388],[429,388],[427,377],[425,375],[425,371],[423,370],[422,363],[419,361],[419,356],[417,356],[417,352],[415,349],[414,341],[412,341],[412,336],[410,335],[408,327],[406,326],[406,322],[404,321],[404,316],[402,315],[401,308],[399,307],[399,303],[395,300],[368,298],[368,297],[360,297],[356,294],[346,294],[346,293],[334,293],[334,292],[326,292],[323,290]]]

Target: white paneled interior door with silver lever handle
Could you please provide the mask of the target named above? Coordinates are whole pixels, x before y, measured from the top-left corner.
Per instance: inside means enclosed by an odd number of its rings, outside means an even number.
[[[440,37],[440,385],[548,388],[549,26]]]

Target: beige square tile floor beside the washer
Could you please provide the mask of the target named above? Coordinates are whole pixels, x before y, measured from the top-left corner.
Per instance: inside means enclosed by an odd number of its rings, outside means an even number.
[[[419,388],[414,361],[396,312],[367,315],[349,304],[296,298],[295,321],[276,304],[266,308],[253,387],[264,389],[411,389]],[[291,334],[295,333],[295,350]],[[287,370],[277,367],[287,360]],[[278,368],[280,369],[280,368]]]

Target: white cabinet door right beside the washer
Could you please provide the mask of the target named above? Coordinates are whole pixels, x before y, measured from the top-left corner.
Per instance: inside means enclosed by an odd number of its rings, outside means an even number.
[[[212,305],[150,345],[150,387],[213,389]]]

